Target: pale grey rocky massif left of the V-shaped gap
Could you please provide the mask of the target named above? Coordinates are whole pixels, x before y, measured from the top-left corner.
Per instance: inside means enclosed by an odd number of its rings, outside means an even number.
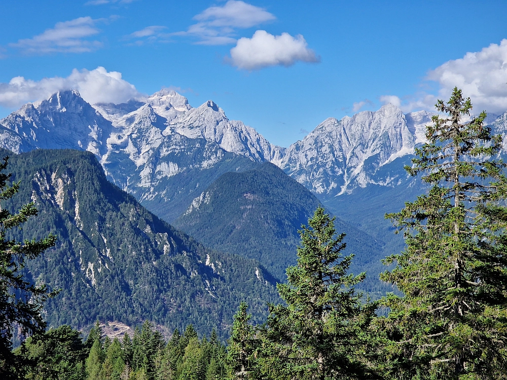
[[[115,184],[141,201],[160,202],[195,198],[194,191],[223,172],[249,169],[244,160],[270,161],[283,150],[253,128],[230,121],[214,102],[192,108],[185,97],[168,90],[93,106],[78,91],[58,92],[0,120],[0,146],[14,153],[37,148],[91,151]],[[243,163],[233,164],[236,156]]]

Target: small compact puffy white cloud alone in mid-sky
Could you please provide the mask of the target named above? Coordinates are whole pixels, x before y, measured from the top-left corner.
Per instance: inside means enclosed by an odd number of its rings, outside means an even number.
[[[297,61],[319,62],[301,34],[273,35],[257,30],[251,39],[243,37],[231,49],[231,64],[241,69],[256,70],[268,66],[291,66]]]

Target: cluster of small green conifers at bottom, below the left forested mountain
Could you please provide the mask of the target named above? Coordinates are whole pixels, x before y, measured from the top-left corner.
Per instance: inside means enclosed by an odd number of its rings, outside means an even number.
[[[144,322],[132,339],[127,334],[122,342],[114,338],[108,346],[95,339],[86,359],[86,375],[79,379],[225,380],[226,355],[216,333],[210,340],[199,339],[189,325],[183,336],[175,330],[166,344],[160,332]]]

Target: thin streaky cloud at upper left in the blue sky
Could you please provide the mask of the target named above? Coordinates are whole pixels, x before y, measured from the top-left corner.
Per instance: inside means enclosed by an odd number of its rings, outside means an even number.
[[[100,41],[89,39],[99,33],[99,29],[96,27],[99,21],[103,20],[80,17],[58,22],[54,28],[46,29],[31,39],[19,40],[9,46],[19,49],[24,54],[91,52],[102,47]]]

